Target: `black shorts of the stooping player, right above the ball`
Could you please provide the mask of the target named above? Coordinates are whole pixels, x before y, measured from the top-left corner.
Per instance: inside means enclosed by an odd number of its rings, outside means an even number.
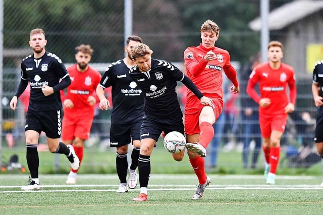
[[[165,135],[171,131],[178,131],[184,135],[182,116],[179,115],[167,119],[155,119],[153,117],[144,116],[140,128],[140,140],[151,138],[157,141],[160,133],[163,131],[165,132]]]

